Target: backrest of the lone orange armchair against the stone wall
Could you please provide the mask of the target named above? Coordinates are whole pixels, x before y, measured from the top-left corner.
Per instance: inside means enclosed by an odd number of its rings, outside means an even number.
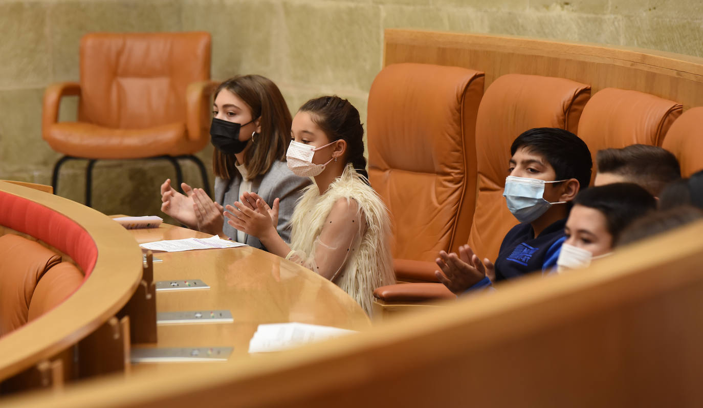
[[[186,87],[210,77],[210,34],[86,34],[80,76],[82,122],[120,129],[185,122]]]

